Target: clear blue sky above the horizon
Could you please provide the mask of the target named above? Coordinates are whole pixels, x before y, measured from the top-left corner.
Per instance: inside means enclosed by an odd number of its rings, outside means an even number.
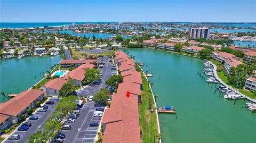
[[[1,22],[256,22],[256,1],[1,1]]]

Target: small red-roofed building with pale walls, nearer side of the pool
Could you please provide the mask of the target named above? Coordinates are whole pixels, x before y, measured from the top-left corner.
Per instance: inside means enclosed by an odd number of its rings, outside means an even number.
[[[47,82],[41,90],[45,91],[46,95],[60,95],[61,87],[67,83],[68,80],[57,78]]]

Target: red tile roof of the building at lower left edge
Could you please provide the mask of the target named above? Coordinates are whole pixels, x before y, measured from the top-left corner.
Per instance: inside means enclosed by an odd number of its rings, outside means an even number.
[[[7,102],[1,103],[0,114],[17,116],[42,94],[44,94],[42,90],[25,90]]]

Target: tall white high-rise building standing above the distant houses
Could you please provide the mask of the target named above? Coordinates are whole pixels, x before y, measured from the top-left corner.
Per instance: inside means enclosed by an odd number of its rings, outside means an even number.
[[[196,38],[210,38],[210,29],[209,28],[189,28],[189,37]]]

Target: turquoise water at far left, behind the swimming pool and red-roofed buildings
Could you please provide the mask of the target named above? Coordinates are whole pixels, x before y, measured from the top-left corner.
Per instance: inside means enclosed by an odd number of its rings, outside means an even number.
[[[19,94],[23,90],[32,87],[43,79],[43,72],[51,71],[61,61],[57,56],[29,56],[23,58],[11,58],[1,60],[1,84],[0,92],[5,94]],[[6,102],[1,96],[0,103]]]

